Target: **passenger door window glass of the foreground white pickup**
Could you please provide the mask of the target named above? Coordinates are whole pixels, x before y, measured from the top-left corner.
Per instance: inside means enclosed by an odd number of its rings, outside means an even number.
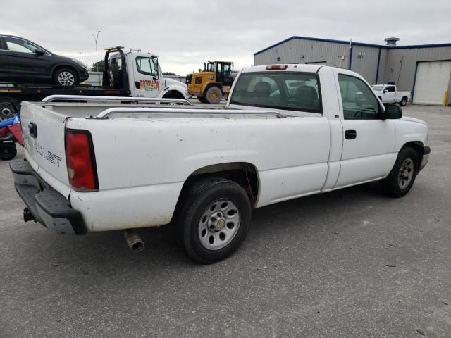
[[[347,120],[378,119],[379,104],[369,87],[358,77],[338,75],[343,104],[343,115]]]

